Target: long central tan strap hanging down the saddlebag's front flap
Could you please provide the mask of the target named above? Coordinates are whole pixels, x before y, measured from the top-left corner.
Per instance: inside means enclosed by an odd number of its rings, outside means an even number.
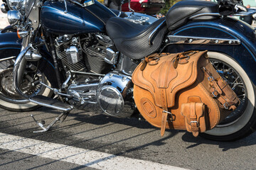
[[[161,106],[163,108],[161,120],[161,136],[164,136],[164,132],[166,129],[166,120],[168,115],[166,89],[161,89]]]

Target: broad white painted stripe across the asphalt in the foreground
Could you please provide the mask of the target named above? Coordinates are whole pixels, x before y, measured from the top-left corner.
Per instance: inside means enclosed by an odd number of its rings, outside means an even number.
[[[185,170],[176,166],[148,162],[89,149],[60,145],[41,140],[8,135],[0,132],[0,148],[39,157],[70,162],[95,169],[168,169]],[[171,159],[171,158],[170,158]]]

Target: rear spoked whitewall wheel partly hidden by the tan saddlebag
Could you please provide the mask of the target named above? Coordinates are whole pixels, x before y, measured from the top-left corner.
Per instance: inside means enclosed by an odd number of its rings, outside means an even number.
[[[210,140],[228,141],[250,135],[256,125],[255,86],[244,69],[228,55],[208,52],[208,56],[216,71],[238,95],[240,105],[213,130],[201,136]]]

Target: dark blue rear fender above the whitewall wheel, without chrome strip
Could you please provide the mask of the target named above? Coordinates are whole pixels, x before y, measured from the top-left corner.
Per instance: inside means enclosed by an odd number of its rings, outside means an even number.
[[[233,57],[245,69],[252,82],[256,84],[256,37],[253,28],[247,23],[230,17],[219,18],[215,21],[191,21],[169,35],[240,40],[240,45],[175,44],[169,45],[167,51],[209,50],[224,53]]]

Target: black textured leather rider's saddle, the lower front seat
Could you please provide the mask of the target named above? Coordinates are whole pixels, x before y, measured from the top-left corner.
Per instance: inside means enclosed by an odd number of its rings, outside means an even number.
[[[166,24],[164,23],[154,34],[152,45],[149,45],[149,35],[163,21],[165,18],[144,26],[124,18],[112,17],[106,23],[107,35],[114,41],[119,52],[132,59],[142,59],[159,50],[167,30]]]

